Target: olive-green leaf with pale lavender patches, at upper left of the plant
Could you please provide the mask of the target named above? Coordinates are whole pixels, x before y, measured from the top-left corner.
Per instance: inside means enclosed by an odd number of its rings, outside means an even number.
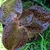
[[[8,6],[9,5],[9,6]],[[4,10],[4,11],[3,11]],[[0,8],[0,22],[8,24],[14,22],[22,14],[21,0],[7,0]]]

